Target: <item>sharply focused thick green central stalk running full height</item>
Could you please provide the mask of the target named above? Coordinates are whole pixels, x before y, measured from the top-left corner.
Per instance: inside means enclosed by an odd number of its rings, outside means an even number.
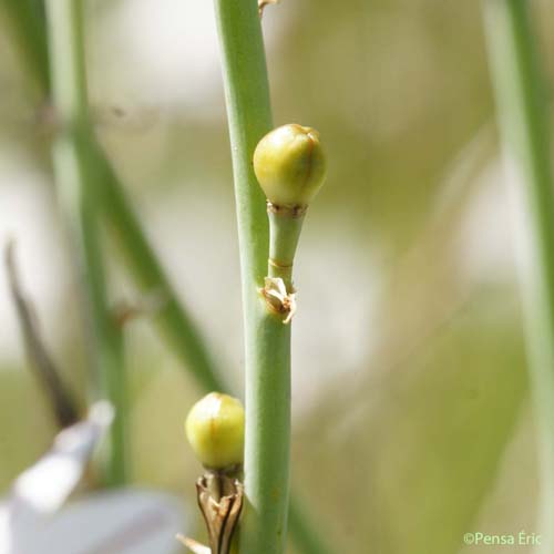
[[[259,296],[268,259],[266,202],[254,175],[256,144],[271,127],[256,0],[216,0],[229,123],[246,347],[246,506],[242,554],[281,554],[287,537],[290,449],[290,326]]]

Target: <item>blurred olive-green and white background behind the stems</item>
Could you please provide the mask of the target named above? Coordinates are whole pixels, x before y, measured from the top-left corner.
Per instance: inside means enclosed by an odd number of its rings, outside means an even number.
[[[532,2],[550,79],[554,11]],[[244,384],[232,168],[212,2],[90,0],[99,137],[224,378]],[[535,531],[511,204],[480,2],[283,0],[264,16],[276,124],[321,133],[329,177],[297,256],[294,488],[339,552],[448,554]],[[75,394],[88,381],[49,132],[0,21],[0,245]],[[107,237],[110,240],[110,236]],[[121,254],[112,300],[136,300]],[[55,427],[0,270],[0,489]],[[194,503],[202,396],[147,319],[126,327],[133,481]],[[291,546],[290,552],[295,552]],[[520,547],[519,552],[531,552]]]

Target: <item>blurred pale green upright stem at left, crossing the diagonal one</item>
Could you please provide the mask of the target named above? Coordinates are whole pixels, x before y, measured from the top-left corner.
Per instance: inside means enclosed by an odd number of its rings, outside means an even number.
[[[84,287],[90,352],[98,396],[115,408],[104,468],[107,485],[126,476],[126,382],[121,331],[110,312],[104,283],[94,179],[94,137],[91,132],[84,66],[81,0],[48,0],[48,39],[52,96],[59,120],[53,144],[54,172],[62,215],[65,218]]]

